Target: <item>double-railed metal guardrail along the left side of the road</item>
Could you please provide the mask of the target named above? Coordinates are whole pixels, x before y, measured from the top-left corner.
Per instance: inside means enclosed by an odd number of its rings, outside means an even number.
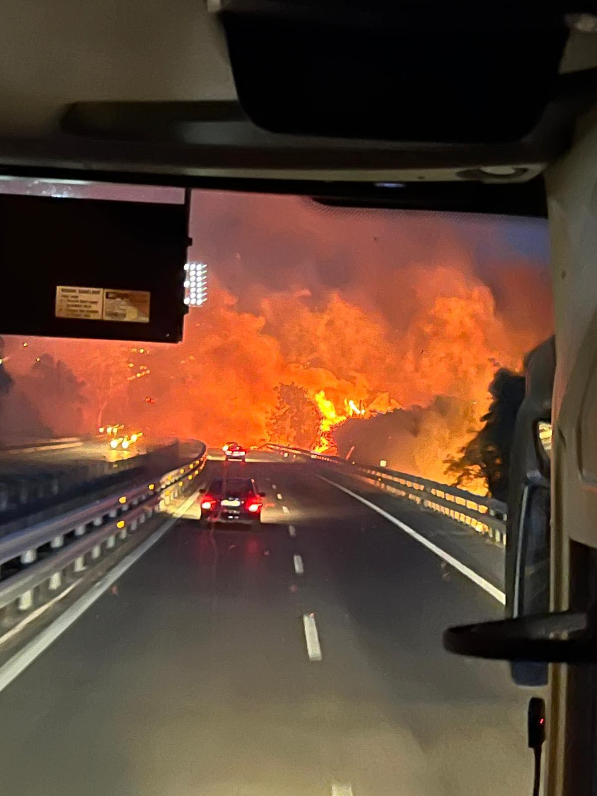
[[[201,443],[186,461],[154,482],[115,491],[110,497],[53,517],[0,539],[0,609],[21,615],[52,599],[64,579],[76,579],[125,540],[139,525],[188,490],[207,455]],[[45,588],[45,593],[41,591]]]

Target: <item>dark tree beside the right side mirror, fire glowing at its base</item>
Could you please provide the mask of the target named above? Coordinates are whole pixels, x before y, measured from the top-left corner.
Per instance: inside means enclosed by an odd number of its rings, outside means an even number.
[[[466,489],[466,482],[479,474],[485,476],[490,495],[505,501],[508,494],[508,471],[514,423],[525,397],[525,378],[505,368],[497,371],[490,384],[490,410],[484,423],[458,458],[447,460],[446,474],[454,486]]]

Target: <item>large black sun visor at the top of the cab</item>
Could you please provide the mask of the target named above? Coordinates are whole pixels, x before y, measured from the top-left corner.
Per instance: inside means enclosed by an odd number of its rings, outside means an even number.
[[[553,96],[561,10],[470,14],[429,2],[222,0],[241,105],[277,133],[516,142]],[[272,68],[275,64],[275,68]]]

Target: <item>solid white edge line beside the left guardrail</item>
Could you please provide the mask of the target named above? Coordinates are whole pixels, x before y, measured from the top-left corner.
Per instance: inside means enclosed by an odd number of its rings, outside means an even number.
[[[111,569],[106,576],[97,583],[94,583],[91,589],[85,592],[84,595],[81,595],[76,603],[72,603],[72,606],[68,607],[66,611],[64,611],[64,614],[60,615],[51,625],[47,626],[45,630],[42,630],[38,636],[32,638],[29,643],[25,644],[22,650],[19,650],[10,660],[6,661],[6,663],[0,667],[0,692],[6,689],[6,686],[10,685],[15,677],[18,677],[27,666],[41,655],[41,653],[45,652],[50,644],[55,642],[56,639],[64,633],[64,630],[68,630],[73,622],[76,622],[88,608],[92,607],[93,603],[100,599],[103,593],[111,587],[112,583],[118,580],[120,576],[123,576],[123,574],[127,572],[127,569],[131,568],[132,565],[141,558],[144,552],[147,552],[147,550],[153,547],[154,544],[163,537],[166,531],[170,530],[174,523],[178,521],[180,515],[184,514],[186,509],[193,504],[195,497],[195,494],[191,495],[191,497],[181,505],[180,509],[177,509],[177,516],[167,520],[161,528],[155,531],[155,533],[142,542],[142,544],[139,544],[138,548],[135,548],[135,550],[129,553],[119,564],[116,564],[115,568]]]

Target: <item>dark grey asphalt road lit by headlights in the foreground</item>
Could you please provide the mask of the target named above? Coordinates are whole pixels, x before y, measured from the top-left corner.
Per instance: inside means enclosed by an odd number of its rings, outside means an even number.
[[[267,491],[261,530],[181,519],[0,693],[2,793],[530,793],[529,694],[440,644],[501,606],[310,465],[256,458],[231,468]]]

